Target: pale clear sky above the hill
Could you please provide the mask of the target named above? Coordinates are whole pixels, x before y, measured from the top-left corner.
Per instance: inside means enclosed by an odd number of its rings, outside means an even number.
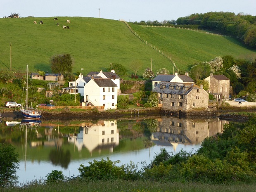
[[[177,20],[194,13],[256,16],[256,0],[1,0],[0,17],[100,17],[135,22]]]

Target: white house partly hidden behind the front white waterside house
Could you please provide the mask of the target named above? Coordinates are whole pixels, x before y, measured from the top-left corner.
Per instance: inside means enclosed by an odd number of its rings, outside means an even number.
[[[93,77],[98,76],[98,77],[102,77],[102,78],[111,79],[117,85],[117,94],[120,95],[121,80],[120,80],[120,77],[115,73],[114,70],[111,70],[111,72],[102,72],[102,70],[100,70],[100,72],[92,71],[92,72],[88,73],[87,76],[93,76]]]

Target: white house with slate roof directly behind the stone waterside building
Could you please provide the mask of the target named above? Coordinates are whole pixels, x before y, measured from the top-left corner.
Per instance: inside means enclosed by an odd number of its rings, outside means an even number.
[[[178,75],[177,72],[174,75],[158,75],[152,80],[152,90],[161,82],[172,82],[172,83],[194,83],[194,80],[188,76],[188,73],[185,75]]]

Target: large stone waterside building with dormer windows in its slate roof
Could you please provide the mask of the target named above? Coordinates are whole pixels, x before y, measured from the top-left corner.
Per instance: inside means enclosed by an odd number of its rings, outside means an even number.
[[[209,94],[201,87],[190,83],[160,82],[153,92],[157,93],[159,106],[168,111],[193,111],[208,109]]]

